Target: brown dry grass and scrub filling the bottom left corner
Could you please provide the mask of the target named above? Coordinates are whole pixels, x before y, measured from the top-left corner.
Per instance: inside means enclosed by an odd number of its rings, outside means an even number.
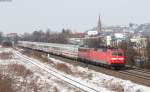
[[[27,76],[33,73],[25,66],[9,64],[6,68],[0,67],[0,92],[40,92],[41,87],[37,84],[39,78],[28,80]]]

